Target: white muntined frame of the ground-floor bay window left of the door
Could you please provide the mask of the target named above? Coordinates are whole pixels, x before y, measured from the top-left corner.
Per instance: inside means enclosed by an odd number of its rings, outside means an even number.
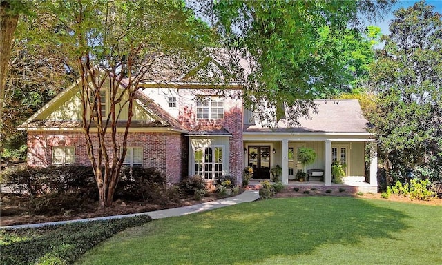
[[[202,160],[200,163],[197,163],[196,157],[195,157],[195,153],[196,151],[201,148],[202,149]],[[206,148],[211,148],[211,153],[207,154],[206,153]],[[221,148],[222,150],[222,161],[221,163],[217,162],[215,160],[215,150],[216,148]],[[224,145],[212,145],[212,146],[195,146],[194,150],[193,150],[193,170],[195,175],[199,175],[202,177],[202,179],[204,180],[213,180],[216,179],[217,177],[221,177],[222,175],[224,175],[225,172],[225,166],[226,164],[224,163],[224,161],[226,161],[225,156],[226,156],[226,148]],[[206,156],[211,156],[212,157],[212,161],[211,162],[206,162]],[[197,170],[197,165],[201,165],[200,166],[200,170]],[[215,170],[217,168],[217,166],[221,166],[221,170]],[[210,170],[208,170],[208,168],[211,168]]]

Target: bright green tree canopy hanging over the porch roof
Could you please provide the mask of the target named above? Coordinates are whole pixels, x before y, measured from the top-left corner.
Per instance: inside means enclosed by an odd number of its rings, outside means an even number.
[[[361,54],[343,52],[354,46],[349,39],[361,45],[358,16],[389,6],[389,1],[218,1],[209,16],[244,86],[245,106],[269,107],[257,112],[269,125],[285,115],[296,124],[315,107],[313,99],[349,89],[356,68],[363,69],[357,66]],[[247,61],[246,72],[238,67],[238,55]]]

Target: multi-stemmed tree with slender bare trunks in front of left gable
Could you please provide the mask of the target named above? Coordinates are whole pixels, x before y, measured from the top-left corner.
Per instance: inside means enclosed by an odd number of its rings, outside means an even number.
[[[110,206],[138,85],[157,81],[156,71],[171,70],[171,65],[201,61],[211,32],[184,2],[173,0],[46,1],[37,10],[38,23],[49,33],[41,35],[42,42],[64,57],[66,68],[79,77],[88,156],[100,204]],[[103,92],[110,108],[106,114],[101,111]],[[123,110],[127,120],[121,117]],[[123,132],[117,133],[121,122]]]

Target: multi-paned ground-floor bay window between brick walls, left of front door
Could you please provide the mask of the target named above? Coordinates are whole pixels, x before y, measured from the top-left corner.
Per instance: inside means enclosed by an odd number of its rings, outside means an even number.
[[[223,148],[222,146],[209,146],[195,148],[195,175],[204,179],[216,179],[222,176]]]

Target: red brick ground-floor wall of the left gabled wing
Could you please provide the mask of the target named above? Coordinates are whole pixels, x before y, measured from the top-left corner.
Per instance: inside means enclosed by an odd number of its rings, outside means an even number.
[[[97,137],[91,135],[93,142]],[[111,150],[111,135],[108,137],[108,150]],[[123,134],[117,134],[121,145]],[[168,177],[168,181],[180,181],[183,171],[182,135],[180,133],[129,133],[127,146],[143,147],[143,166],[155,167]],[[90,164],[86,149],[86,139],[82,132],[28,132],[28,164],[50,166],[52,146],[75,146],[75,163]],[[95,145],[94,145],[95,146]]]

